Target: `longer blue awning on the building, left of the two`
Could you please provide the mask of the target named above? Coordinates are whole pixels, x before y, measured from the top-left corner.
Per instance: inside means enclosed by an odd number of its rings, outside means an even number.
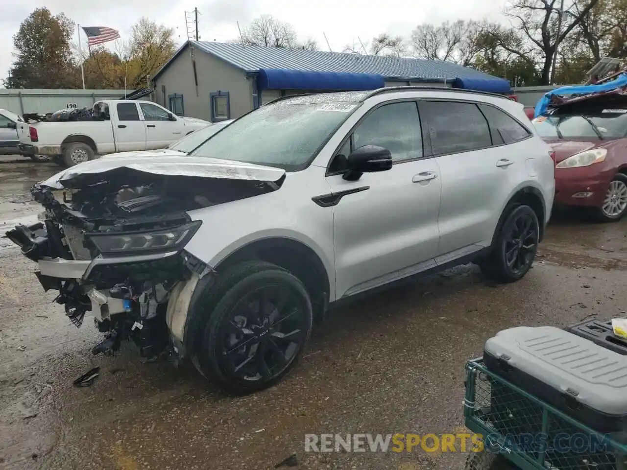
[[[260,90],[376,90],[386,83],[370,73],[315,72],[261,68],[257,75]]]

